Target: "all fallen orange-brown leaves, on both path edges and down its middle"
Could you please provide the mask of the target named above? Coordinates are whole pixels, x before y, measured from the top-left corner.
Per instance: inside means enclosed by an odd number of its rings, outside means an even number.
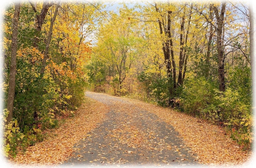
[[[28,164],[33,166],[63,163],[74,151],[75,148],[72,148],[74,144],[81,139],[86,140],[88,132],[96,128],[97,124],[105,119],[105,114],[110,111],[110,101],[114,102],[116,100],[117,104],[119,102],[120,105],[115,105],[114,109],[116,113],[122,113],[123,121],[119,123],[120,127],[113,129],[112,134],[108,136],[112,136],[112,139],[116,139],[121,144],[128,144],[132,148],[140,148],[143,144],[150,146],[150,139],[155,139],[156,135],[151,135],[150,131],[147,131],[148,133],[145,134],[145,131],[143,132],[138,127],[130,125],[129,117],[139,118],[140,116],[146,116],[147,118],[149,113],[154,113],[158,116],[158,120],[174,127],[175,131],[183,139],[184,145],[191,148],[191,152],[198,156],[198,161],[202,164],[221,166],[242,165],[249,161],[250,156],[252,156],[252,152],[243,151],[242,147],[232,141],[230,135],[223,128],[206,121],[201,121],[169,108],[147,104],[138,100],[117,98],[106,94],[98,95],[99,97],[102,96],[102,100],[106,102],[100,103],[87,98],[86,104],[83,104],[76,111],[75,117],[67,119],[58,129],[48,130],[47,139],[29,147],[25,154],[20,152],[16,159],[10,161],[16,165]],[[138,110],[141,112],[133,113],[133,111]],[[146,120],[150,122],[149,119],[150,117],[148,116]],[[114,125],[114,127],[116,126]],[[154,126],[152,126],[152,129],[154,129]],[[165,143],[167,141],[163,142],[163,144]],[[166,148],[170,147],[168,144],[165,146]],[[173,149],[170,147],[169,150]]]

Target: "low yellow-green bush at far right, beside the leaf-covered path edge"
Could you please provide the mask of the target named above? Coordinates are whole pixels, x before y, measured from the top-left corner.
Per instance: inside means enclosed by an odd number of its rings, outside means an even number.
[[[232,138],[239,144],[250,145],[252,142],[252,109],[251,104],[242,99],[238,90],[228,88],[215,97],[220,101],[217,106],[220,119],[232,130]]]

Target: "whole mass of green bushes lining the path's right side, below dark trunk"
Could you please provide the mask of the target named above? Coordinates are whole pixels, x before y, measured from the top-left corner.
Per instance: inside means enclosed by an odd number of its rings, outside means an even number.
[[[233,79],[230,88],[225,92],[218,91],[216,85],[204,77],[190,78],[184,85],[181,109],[218,125],[226,125],[231,137],[247,148],[253,139],[251,84],[246,77],[239,77],[240,72],[236,69],[230,77]]]

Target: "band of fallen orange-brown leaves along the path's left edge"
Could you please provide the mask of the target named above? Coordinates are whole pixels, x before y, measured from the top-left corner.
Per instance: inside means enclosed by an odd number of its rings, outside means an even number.
[[[66,119],[58,129],[50,129],[47,139],[28,147],[25,154],[21,151],[15,159],[10,160],[15,165],[45,166],[64,162],[73,152],[73,145],[86,137],[104,120],[109,107],[95,100],[86,98],[85,103],[76,111],[76,116]]]

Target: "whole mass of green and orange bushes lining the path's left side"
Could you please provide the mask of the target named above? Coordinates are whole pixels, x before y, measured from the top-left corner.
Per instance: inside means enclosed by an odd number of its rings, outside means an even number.
[[[49,61],[41,74],[43,54],[38,49],[21,47],[17,53],[13,119],[4,125],[5,155],[13,157],[19,148],[42,141],[42,129],[58,127],[57,115],[73,116],[83,102],[86,85],[82,68],[75,71],[66,62]],[[4,86],[7,94],[8,85]]]

